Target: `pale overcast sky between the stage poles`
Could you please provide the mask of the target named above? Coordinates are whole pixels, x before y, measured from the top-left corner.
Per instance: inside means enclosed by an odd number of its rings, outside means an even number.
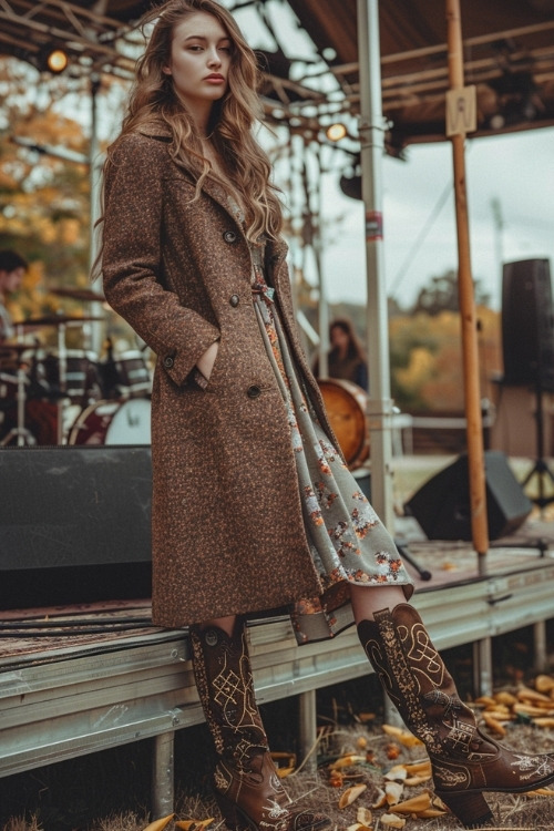
[[[554,268],[554,129],[470,140],[465,164],[472,273],[500,308],[503,261],[546,257]],[[386,157],[382,178],[387,293],[406,306],[432,276],[456,268],[450,143],[412,145],[407,162]],[[332,224],[336,212],[348,212],[342,232],[325,248],[329,299],[362,301],[363,211],[342,196],[336,177],[329,179],[326,219]]]

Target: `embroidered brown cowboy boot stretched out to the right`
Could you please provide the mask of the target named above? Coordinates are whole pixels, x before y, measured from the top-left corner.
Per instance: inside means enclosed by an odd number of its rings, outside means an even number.
[[[554,780],[554,757],[513,752],[480,731],[412,606],[377,612],[358,635],[407,727],[427,747],[437,794],[465,828],[492,819],[483,791],[517,793]]]

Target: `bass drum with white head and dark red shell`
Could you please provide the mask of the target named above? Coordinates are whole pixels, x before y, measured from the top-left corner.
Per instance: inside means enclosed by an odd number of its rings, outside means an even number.
[[[147,399],[96,401],[75,420],[69,444],[150,444]]]

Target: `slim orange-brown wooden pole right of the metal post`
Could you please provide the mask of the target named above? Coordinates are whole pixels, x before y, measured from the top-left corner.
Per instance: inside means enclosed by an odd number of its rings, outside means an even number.
[[[449,50],[450,88],[463,92],[463,47],[459,0],[447,0],[447,27]],[[463,96],[460,96],[462,101]],[[463,109],[463,105],[462,105]],[[483,450],[483,424],[479,386],[478,322],[473,278],[471,274],[470,234],[468,222],[468,196],[465,188],[465,157],[463,119],[460,132],[451,135],[454,195],[458,234],[458,291],[462,324],[463,384],[465,419],[468,422],[468,464],[470,480],[471,531],[473,545],[480,555],[480,571],[484,571],[484,558],[489,551],[486,519],[486,479]]]

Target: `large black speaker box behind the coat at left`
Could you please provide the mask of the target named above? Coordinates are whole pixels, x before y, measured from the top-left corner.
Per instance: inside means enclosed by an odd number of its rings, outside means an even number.
[[[0,608],[150,597],[150,447],[0,450]]]

